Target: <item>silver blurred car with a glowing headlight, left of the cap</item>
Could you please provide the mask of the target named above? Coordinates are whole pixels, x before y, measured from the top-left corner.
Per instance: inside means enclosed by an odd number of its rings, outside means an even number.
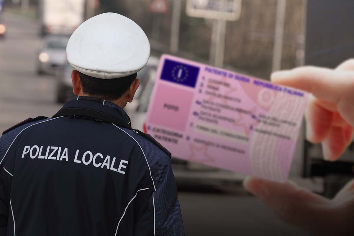
[[[61,35],[47,35],[43,38],[38,51],[37,73],[55,74],[67,62],[66,46],[69,37]]]

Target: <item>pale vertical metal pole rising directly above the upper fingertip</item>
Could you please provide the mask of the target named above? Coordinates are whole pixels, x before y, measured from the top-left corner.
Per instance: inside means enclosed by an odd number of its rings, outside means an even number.
[[[285,20],[285,0],[278,0],[276,7],[276,22],[275,22],[275,39],[274,39],[274,51],[273,51],[273,67],[272,70],[281,69],[281,53],[283,47],[284,36],[284,20]]]

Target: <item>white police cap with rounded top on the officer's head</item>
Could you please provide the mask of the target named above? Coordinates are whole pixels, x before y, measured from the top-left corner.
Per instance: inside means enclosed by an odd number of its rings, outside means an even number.
[[[70,65],[82,74],[114,79],[141,70],[148,62],[150,44],[139,25],[109,12],[79,25],[66,52]]]

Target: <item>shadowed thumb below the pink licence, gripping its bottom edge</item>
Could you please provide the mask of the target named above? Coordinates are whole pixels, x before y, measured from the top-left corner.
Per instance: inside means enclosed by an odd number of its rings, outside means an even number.
[[[332,235],[330,201],[298,187],[295,183],[277,183],[247,177],[245,188],[267,205],[281,220],[307,232]]]

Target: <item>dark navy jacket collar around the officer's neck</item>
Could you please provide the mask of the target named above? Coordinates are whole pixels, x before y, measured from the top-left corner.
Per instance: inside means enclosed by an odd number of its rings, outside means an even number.
[[[130,117],[128,116],[128,114],[125,113],[122,108],[120,108],[114,103],[107,102],[103,99],[88,96],[77,96],[65,103],[60,110],[67,108],[83,108],[99,111],[101,113],[114,116],[117,119],[124,121],[129,126],[131,125]]]

